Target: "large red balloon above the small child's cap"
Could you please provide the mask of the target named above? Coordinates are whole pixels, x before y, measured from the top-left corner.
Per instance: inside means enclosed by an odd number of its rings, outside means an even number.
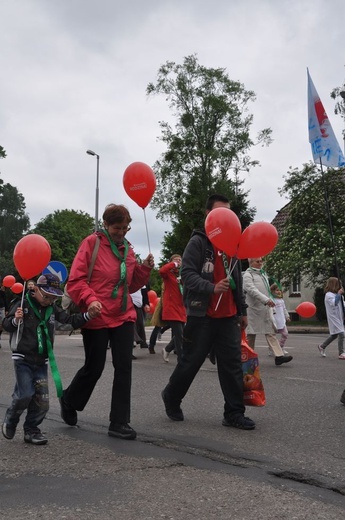
[[[14,265],[23,280],[41,273],[50,262],[49,242],[41,235],[26,235],[13,251]]]

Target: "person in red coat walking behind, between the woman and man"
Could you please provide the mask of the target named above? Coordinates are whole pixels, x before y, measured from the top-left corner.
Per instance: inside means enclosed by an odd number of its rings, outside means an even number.
[[[164,282],[162,319],[168,322],[172,333],[170,343],[162,349],[163,359],[166,363],[169,362],[169,354],[173,350],[177,353],[178,359],[181,358],[183,327],[187,321],[182,299],[181,262],[180,255],[172,255],[170,261],[159,270]]]

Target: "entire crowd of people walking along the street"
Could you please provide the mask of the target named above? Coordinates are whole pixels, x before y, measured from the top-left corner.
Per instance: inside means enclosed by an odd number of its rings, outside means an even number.
[[[229,200],[211,195],[205,215],[216,208],[230,208]],[[174,253],[159,269],[162,294],[147,343],[147,292],[154,258],[151,253],[142,262],[136,258],[126,238],[131,220],[125,206],[109,204],[103,213],[103,228],[81,243],[66,286],[78,312],[69,313],[57,305],[63,292],[53,274],[30,281],[23,298],[11,305],[1,287],[0,340],[3,328],[10,333],[15,375],[12,403],[2,424],[6,439],[13,439],[26,411],[24,441],[37,445],[48,442],[39,428],[49,408],[48,362],[54,372],[61,417],[67,425],[77,425],[78,415],[103,373],[108,349],[114,368],[108,435],[135,439],[136,431],[130,426],[133,347],[137,344],[154,354],[158,336],[169,328],[171,341],[162,348],[163,360],[168,362],[174,352],[177,361],[161,393],[169,419],[184,420],[182,401],[206,358],[212,356],[224,398],[222,425],[255,429],[255,422],[245,415],[241,337],[246,331],[248,345],[254,349],[257,334],[264,334],[276,366],[292,361],[285,350],[290,318],[279,282],[270,284],[262,257],[249,258],[242,275],[240,261],[213,245],[205,229],[195,230],[183,255]],[[337,338],[339,359],[345,359],[343,293],[338,278],[327,281],[330,336],[318,346],[322,357]],[[81,329],[85,353],[83,366],[64,389],[61,380],[59,388],[53,354],[55,320]],[[345,390],[341,402],[345,404]]]

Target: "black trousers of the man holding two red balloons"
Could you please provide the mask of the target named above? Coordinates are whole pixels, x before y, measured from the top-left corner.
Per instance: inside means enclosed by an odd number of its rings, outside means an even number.
[[[188,316],[183,331],[182,356],[164,392],[172,405],[179,406],[196,374],[212,349],[217,358],[219,383],[224,396],[224,417],[242,415],[243,371],[241,327],[237,317]]]

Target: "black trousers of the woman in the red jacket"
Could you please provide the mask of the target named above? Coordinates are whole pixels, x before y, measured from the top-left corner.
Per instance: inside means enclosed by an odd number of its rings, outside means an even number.
[[[85,363],[64,391],[64,399],[75,410],[84,410],[102,375],[110,342],[114,379],[109,420],[130,422],[134,323],[111,329],[84,329],[82,334]]]

